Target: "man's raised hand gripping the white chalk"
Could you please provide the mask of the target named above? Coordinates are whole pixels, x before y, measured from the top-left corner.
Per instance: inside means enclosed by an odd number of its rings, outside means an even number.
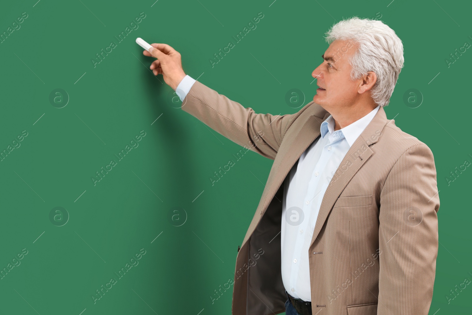
[[[150,48],[150,51],[143,51],[144,56],[157,58],[149,68],[155,76],[161,74],[164,81],[175,91],[185,77],[180,53],[168,44],[153,43],[151,46],[154,48]]]

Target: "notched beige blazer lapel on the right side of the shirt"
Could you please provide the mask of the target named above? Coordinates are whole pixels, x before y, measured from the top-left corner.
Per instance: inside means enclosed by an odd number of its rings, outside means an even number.
[[[321,201],[320,212],[316,219],[310,246],[317,238],[318,233],[320,233],[321,227],[324,225],[328,214],[331,212],[337,197],[344,190],[347,183],[353,178],[354,174],[357,173],[362,165],[373,154],[370,145],[377,142],[380,133],[387,122],[388,119],[385,115],[385,111],[380,107],[369,125],[367,125],[361,135],[354,141],[353,145],[347,151],[326,188],[323,200]]]

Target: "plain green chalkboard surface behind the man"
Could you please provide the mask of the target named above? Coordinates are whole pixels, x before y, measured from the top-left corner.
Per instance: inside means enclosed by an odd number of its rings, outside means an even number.
[[[311,73],[328,48],[324,33],[352,16],[384,21],[404,43],[405,67],[386,112],[435,157],[440,245],[429,314],[470,314],[470,285],[446,298],[472,280],[472,170],[446,180],[472,161],[472,52],[446,63],[472,43],[470,4],[31,0],[2,3],[0,33],[23,12],[21,27],[0,43],[0,150],[28,134],[0,162],[0,269],[23,248],[28,253],[0,280],[1,314],[230,314],[232,289],[211,297],[233,279],[272,161],[246,153],[212,186],[241,147],[172,102],[135,38],[170,44],[186,74],[244,107],[287,114],[316,93]],[[138,28],[118,42],[142,12]],[[256,29],[212,67],[213,55],[259,12]],[[112,41],[117,46],[94,67]],[[49,101],[58,88],[69,98],[62,108]],[[294,88],[306,98],[297,106],[285,101]],[[412,88],[424,98],[417,108],[403,101]],[[94,185],[95,173],[141,130],[138,146]],[[62,226],[50,221],[58,206],[69,216]],[[94,303],[96,290],[141,249],[139,264]]]

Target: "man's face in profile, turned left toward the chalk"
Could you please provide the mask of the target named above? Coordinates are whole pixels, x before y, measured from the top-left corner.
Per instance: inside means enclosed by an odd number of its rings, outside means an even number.
[[[349,58],[354,55],[357,44],[353,41],[336,40],[323,54],[324,61],[312,72],[317,78],[318,88],[313,101],[325,110],[349,107],[359,96],[358,89],[362,79],[350,79]]]

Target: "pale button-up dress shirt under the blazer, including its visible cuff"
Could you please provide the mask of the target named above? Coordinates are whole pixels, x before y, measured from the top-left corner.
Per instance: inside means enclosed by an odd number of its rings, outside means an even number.
[[[195,80],[188,75],[177,86],[182,102]],[[379,110],[334,131],[331,115],[321,123],[321,135],[302,153],[284,181],[281,222],[282,281],[294,298],[311,301],[308,250],[329,181],[354,141]]]

